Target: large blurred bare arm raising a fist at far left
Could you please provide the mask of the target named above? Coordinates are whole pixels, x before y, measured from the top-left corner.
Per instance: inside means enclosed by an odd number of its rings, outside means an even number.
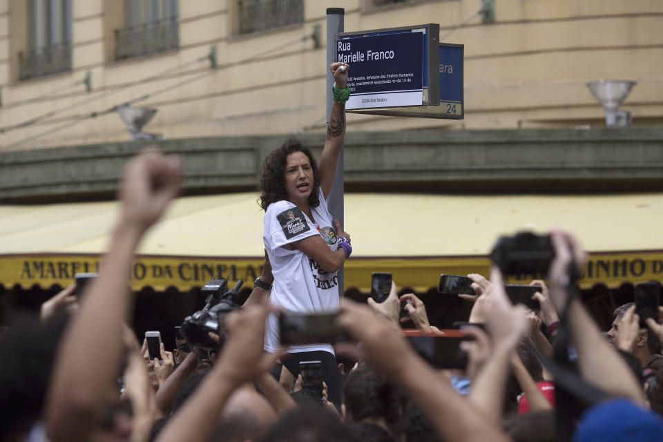
[[[135,249],[179,186],[180,161],[157,151],[138,155],[125,168],[121,216],[103,271],[88,287],[53,367],[46,401],[53,442],[87,440],[102,414],[122,354],[122,321],[133,305],[127,288]]]

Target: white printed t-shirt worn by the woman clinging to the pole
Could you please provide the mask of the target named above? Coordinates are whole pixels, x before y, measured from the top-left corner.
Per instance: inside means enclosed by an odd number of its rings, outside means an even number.
[[[320,204],[311,207],[313,220],[310,220],[295,204],[282,200],[273,202],[265,213],[265,230],[262,240],[265,242],[267,256],[271,264],[274,284],[269,300],[288,311],[298,313],[337,311],[338,276],[337,272],[328,273],[299,249],[287,250],[281,247],[320,235],[332,251],[338,249],[334,220],[327,209],[327,201],[320,190]],[[267,318],[265,329],[265,350],[276,352],[279,347],[278,318],[272,314]],[[288,352],[313,352],[323,350],[334,354],[332,345],[293,345]]]

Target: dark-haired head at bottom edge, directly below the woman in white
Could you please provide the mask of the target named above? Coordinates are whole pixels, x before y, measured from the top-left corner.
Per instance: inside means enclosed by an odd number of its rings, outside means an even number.
[[[283,415],[264,442],[359,442],[338,414],[323,405],[297,407]]]

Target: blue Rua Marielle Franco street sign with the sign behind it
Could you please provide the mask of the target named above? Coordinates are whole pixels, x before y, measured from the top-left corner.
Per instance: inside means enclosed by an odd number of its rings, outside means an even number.
[[[439,44],[439,25],[343,32],[336,59],[350,65],[346,110],[463,119],[463,45]]]

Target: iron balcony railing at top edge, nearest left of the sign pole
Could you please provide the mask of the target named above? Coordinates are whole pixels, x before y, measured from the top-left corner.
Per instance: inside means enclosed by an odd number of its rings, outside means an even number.
[[[304,22],[303,0],[238,0],[240,34]]]

